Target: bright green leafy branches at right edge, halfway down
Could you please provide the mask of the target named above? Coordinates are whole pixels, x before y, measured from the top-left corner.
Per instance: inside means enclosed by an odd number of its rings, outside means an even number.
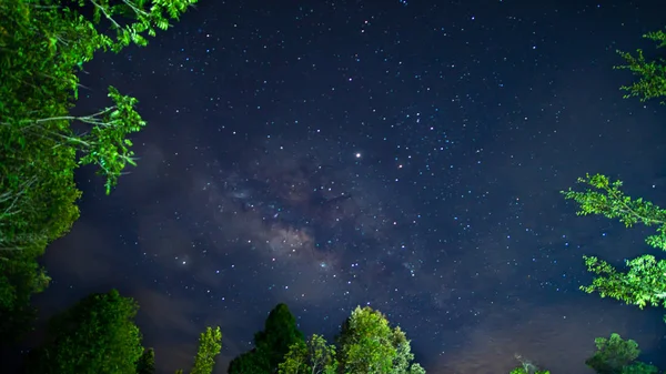
[[[627,228],[637,223],[656,225],[656,233],[647,236],[647,244],[666,250],[666,211],[643,199],[632,199],[622,191],[622,181],[612,182],[607,176],[596,174],[578,179],[588,185],[586,191],[563,191],[567,200],[579,205],[577,215],[602,214],[619,219]],[[642,255],[627,260],[628,270],[622,272],[596,256],[584,256],[587,269],[598,275],[592,285],[581,290],[598,292],[602,297],[613,297],[643,309],[646,305],[666,307],[666,261],[653,255]],[[665,317],[666,321],[666,317]]]

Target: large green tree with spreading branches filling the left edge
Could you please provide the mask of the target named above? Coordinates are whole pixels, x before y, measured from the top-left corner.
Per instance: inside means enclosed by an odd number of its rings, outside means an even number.
[[[112,105],[71,115],[77,72],[98,51],[121,51],[168,29],[196,0],[0,2],[0,341],[31,322],[30,296],[49,283],[37,259],[79,218],[73,173],[95,164],[110,193],[134,164],[128,135],[145,122],[137,99],[109,88]],[[82,10],[89,9],[91,17]],[[99,32],[98,29],[109,30]],[[90,128],[74,133],[73,122]]]

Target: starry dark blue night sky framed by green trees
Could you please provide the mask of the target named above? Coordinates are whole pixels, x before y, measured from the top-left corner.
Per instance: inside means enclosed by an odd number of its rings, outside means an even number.
[[[655,252],[647,231],[578,218],[558,193],[601,172],[665,203],[665,108],[624,100],[632,75],[612,69],[616,49],[655,54],[642,34],[663,10],[201,0],[149,47],[84,67],[77,113],[112,84],[149,124],[110,196],[79,172],[42,313],[118,287],[171,373],[206,325],[225,373],[279,302],[329,338],[356,305],[379,309],[428,373],[504,373],[516,354],[589,373],[610,332],[664,364],[662,311],[578,291],[583,254]]]

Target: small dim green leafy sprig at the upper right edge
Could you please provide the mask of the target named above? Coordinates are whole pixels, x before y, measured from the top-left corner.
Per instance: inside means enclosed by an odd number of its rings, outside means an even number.
[[[663,30],[648,32],[643,38],[653,40],[658,43],[657,48],[666,46],[666,33]],[[666,60],[657,58],[655,60],[646,60],[643,50],[636,50],[636,55],[628,52],[617,51],[623,59],[625,65],[615,67],[615,69],[629,70],[634,75],[639,77],[638,82],[632,85],[623,85],[622,90],[628,91],[624,98],[638,97],[640,101],[647,101],[655,98],[666,97]],[[662,104],[666,103],[662,101]]]

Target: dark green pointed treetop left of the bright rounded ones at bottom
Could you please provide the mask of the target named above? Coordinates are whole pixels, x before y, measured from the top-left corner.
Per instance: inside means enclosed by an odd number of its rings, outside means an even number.
[[[284,355],[297,342],[303,342],[303,333],[296,327],[296,319],[286,304],[278,304],[269,313],[264,330],[254,334],[254,350],[235,357],[229,373],[276,373]]]

